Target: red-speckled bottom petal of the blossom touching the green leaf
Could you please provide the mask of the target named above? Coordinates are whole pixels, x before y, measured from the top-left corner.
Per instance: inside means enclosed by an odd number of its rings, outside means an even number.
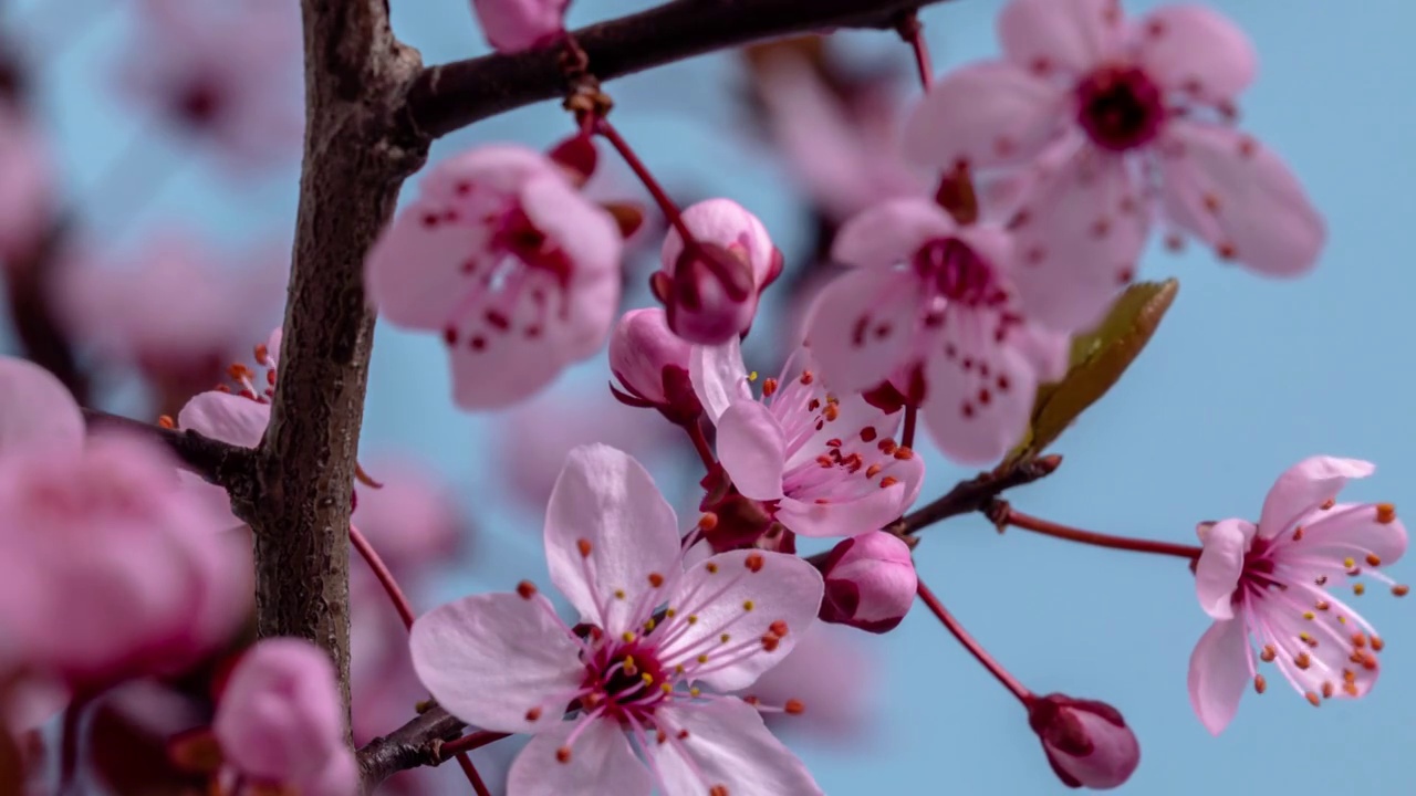
[[[991,330],[967,329],[969,314],[946,316],[943,340],[952,348],[927,360],[922,414],[944,456],[981,466],[997,462],[1022,439],[1038,380],[1022,354],[993,343]],[[956,354],[949,357],[949,350]]]

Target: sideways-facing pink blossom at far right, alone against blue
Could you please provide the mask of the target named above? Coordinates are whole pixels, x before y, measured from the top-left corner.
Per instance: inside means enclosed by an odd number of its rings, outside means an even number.
[[[1365,695],[1376,683],[1382,639],[1331,591],[1351,584],[1361,595],[1362,575],[1391,585],[1378,568],[1406,552],[1406,527],[1389,503],[1335,503],[1348,479],[1374,470],[1357,459],[1313,456],[1279,476],[1257,525],[1199,527],[1195,588],[1215,623],[1191,654],[1189,700],[1212,734],[1229,725],[1250,683],[1264,691],[1259,661],[1277,666],[1314,705]],[[1392,585],[1398,596],[1406,591]]]

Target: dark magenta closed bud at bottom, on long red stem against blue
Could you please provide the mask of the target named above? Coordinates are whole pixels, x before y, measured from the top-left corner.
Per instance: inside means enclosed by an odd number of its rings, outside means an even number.
[[[1141,762],[1136,734],[1106,703],[1063,694],[1034,697],[1028,727],[1042,739],[1052,771],[1068,788],[1109,790],[1130,779]]]

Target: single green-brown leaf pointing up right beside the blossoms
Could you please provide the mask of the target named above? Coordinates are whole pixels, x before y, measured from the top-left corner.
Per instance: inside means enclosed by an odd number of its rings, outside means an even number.
[[[1062,381],[1038,387],[1032,423],[1000,470],[1042,453],[1087,406],[1120,381],[1150,343],[1175,300],[1180,282],[1137,282],[1112,305],[1096,330],[1072,340],[1072,358]]]

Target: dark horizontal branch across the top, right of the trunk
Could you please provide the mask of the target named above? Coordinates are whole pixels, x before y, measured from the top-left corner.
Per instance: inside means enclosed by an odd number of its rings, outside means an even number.
[[[573,33],[602,81],[714,50],[824,28],[889,28],[943,0],[673,0]],[[409,132],[442,137],[479,119],[565,93],[559,48],[484,55],[423,71],[408,95]]]

